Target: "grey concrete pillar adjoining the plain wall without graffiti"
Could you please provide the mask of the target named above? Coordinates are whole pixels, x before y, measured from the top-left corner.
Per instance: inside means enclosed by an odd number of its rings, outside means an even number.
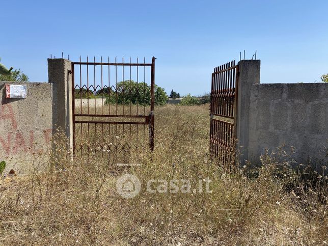
[[[249,159],[249,123],[252,85],[260,84],[260,60],[238,62],[238,98],[237,98],[237,151],[240,165]]]

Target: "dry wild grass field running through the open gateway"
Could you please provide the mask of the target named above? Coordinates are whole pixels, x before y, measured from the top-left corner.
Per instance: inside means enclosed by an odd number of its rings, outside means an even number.
[[[301,179],[280,149],[262,156],[261,168],[222,167],[208,153],[208,107],[156,107],[155,150],[132,154],[139,166],[96,156],[72,161],[64,140],[54,140],[52,161],[37,156],[34,172],[0,181],[0,244],[327,244],[326,177]],[[141,181],[131,199],[116,190],[127,173]],[[146,188],[150,179],[198,187],[206,178],[208,192]]]

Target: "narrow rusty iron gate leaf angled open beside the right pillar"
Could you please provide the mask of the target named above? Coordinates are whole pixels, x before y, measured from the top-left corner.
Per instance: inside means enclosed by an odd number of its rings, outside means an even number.
[[[238,92],[236,61],[214,68],[210,103],[210,153],[224,164],[235,160]]]

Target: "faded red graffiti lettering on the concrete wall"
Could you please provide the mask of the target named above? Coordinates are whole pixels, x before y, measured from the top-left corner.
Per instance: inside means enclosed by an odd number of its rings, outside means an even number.
[[[29,137],[26,139],[21,131],[17,127],[16,117],[13,108],[10,104],[4,104],[0,107],[0,123],[6,124],[7,136],[0,136],[0,144],[5,150],[4,152],[9,154],[17,154],[20,152],[24,153],[35,153],[36,145],[34,142],[35,131],[30,130]],[[7,127],[8,126],[8,127]],[[48,145],[51,139],[51,128],[44,129],[43,138],[45,144]],[[14,140],[14,141],[13,141]]]

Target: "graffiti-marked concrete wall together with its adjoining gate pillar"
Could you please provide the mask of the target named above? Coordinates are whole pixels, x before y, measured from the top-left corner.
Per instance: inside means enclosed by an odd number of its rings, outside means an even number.
[[[72,148],[71,62],[48,59],[49,83],[0,81],[0,161],[4,174],[26,173],[35,156],[49,151],[52,133],[63,129]],[[6,98],[5,85],[26,85],[24,99]]]

